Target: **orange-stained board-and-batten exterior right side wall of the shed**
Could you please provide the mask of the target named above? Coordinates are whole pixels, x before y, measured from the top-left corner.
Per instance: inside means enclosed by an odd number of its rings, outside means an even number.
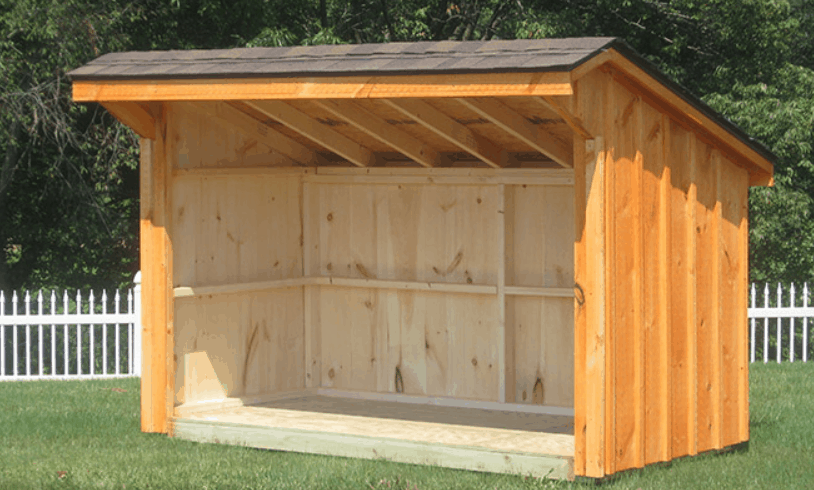
[[[748,174],[623,75],[576,83],[576,473],[748,440]]]

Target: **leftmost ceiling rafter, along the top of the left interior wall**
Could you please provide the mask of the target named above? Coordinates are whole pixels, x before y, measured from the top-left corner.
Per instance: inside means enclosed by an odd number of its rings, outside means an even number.
[[[317,152],[280,132],[274,131],[267,125],[235,107],[222,102],[190,102],[189,104],[205,114],[231,124],[247,136],[257,139],[257,141],[268,146],[273,151],[285,155],[296,162],[303,165],[324,163],[324,158]]]

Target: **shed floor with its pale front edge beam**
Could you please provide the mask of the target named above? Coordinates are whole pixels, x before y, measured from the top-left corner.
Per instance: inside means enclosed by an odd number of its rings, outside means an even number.
[[[185,414],[174,435],[333,456],[573,478],[573,418],[304,393]]]

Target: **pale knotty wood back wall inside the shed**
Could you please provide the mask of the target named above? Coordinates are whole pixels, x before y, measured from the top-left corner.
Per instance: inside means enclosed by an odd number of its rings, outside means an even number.
[[[573,286],[570,186],[506,185],[504,198],[497,185],[309,192],[319,222],[313,267],[323,276],[496,285],[505,240],[507,286]],[[573,299],[506,304],[507,401],[573,406]],[[320,287],[314,308],[316,385],[499,399],[495,295]]]

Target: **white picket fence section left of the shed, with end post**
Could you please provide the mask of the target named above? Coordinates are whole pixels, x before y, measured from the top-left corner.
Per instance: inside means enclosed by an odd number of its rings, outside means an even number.
[[[0,291],[0,381],[141,376],[140,276],[126,296],[102,291],[98,303],[93,291],[87,301],[64,291],[61,305],[55,291],[15,291],[7,305]]]

